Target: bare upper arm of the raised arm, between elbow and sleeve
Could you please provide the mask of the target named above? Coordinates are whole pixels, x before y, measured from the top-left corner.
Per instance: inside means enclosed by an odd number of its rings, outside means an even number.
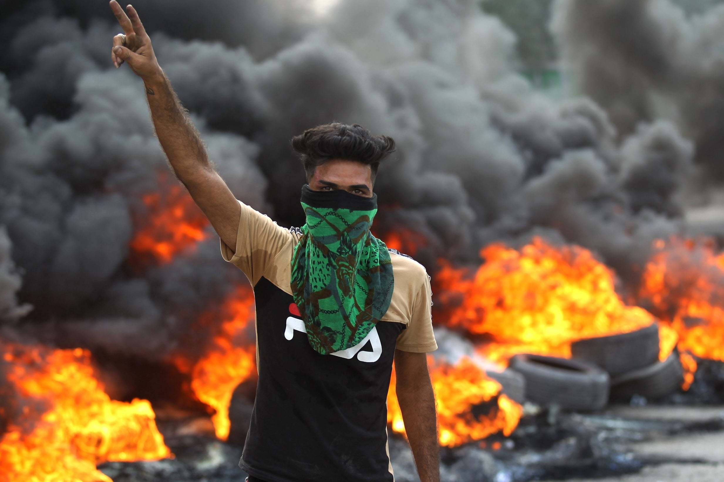
[[[219,238],[232,252],[236,251],[241,207],[224,179],[216,171],[202,168],[193,181],[184,185]]]

